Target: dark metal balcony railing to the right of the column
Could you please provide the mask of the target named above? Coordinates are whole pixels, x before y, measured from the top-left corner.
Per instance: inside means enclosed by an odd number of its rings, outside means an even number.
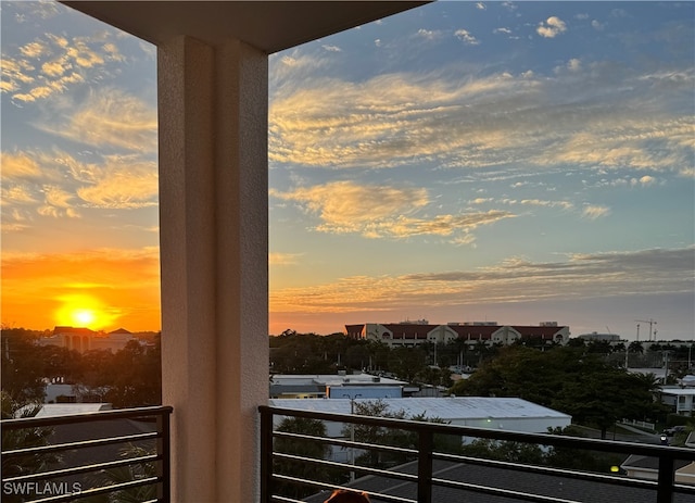
[[[608,441],[566,437],[548,433],[523,433],[506,430],[452,426],[438,423],[387,419],[296,411],[271,406],[261,406],[261,495],[263,503],[269,502],[324,502],[330,491],[340,487],[367,492],[372,503],[432,503],[432,502],[656,502],[681,503],[695,501],[695,450],[659,444],[624,441]],[[319,419],[325,425],[333,425],[333,431],[342,428],[341,438],[330,438],[290,431],[278,431],[283,418]],[[342,427],[336,425],[343,425]],[[345,426],[346,425],[346,426]],[[384,443],[349,440],[352,428],[363,436],[368,431],[383,435],[397,430],[410,437],[408,448]],[[354,431],[354,429],[352,430]],[[591,458],[595,455],[612,455],[619,460],[614,467],[593,471],[580,468],[563,468],[559,465],[534,464],[520,461],[493,461],[484,455],[462,454],[466,450],[441,449],[456,443],[470,445],[472,439],[488,439],[497,445],[539,447],[540,452],[556,452],[566,461]],[[451,439],[455,439],[451,443]],[[331,461],[325,455],[327,450],[306,449],[307,445],[330,445],[350,453],[346,461]],[[288,449],[294,445],[296,449]],[[281,449],[278,449],[281,447]],[[308,454],[313,452],[313,454]],[[323,455],[316,455],[323,452]],[[334,451],[333,451],[334,452]],[[381,454],[374,455],[379,452]],[[539,450],[536,449],[536,452]],[[391,456],[392,466],[383,463],[356,463],[357,460],[379,460]],[[369,454],[371,453],[371,454]],[[654,479],[626,476],[618,468],[629,455],[644,456],[654,464]],[[586,457],[590,456],[590,457]],[[330,456],[328,456],[330,457]],[[334,456],[333,456],[334,457]],[[602,457],[603,460],[603,457]],[[579,463],[581,465],[581,463]],[[370,466],[369,466],[370,465]],[[306,469],[301,469],[306,466]],[[377,466],[377,467],[375,467]],[[677,482],[675,471],[685,467],[683,477],[692,482]],[[331,477],[325,477],[330,470]],[[616,473],[617,471],[617,473]],[[355,479],[355,474],[358,477]],[[340,480],[342,477],[342,481]],[[679,475],[679,478],[681,476]],[[301,488],[301,491],[288,491]]]

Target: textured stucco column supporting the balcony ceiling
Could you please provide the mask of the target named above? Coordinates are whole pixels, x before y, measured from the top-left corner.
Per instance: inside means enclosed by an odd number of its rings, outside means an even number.
[[[268,397],[267,56],[159,47],[163,403],[173,500],[258,500]]]

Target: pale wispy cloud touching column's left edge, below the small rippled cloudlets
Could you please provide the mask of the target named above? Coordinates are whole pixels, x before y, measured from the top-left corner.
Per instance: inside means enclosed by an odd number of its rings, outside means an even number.
[[[47,121],[36,127],[92,147],[156,151],[156,109],[121,89],[92,90],[64,113],[65,122]]]

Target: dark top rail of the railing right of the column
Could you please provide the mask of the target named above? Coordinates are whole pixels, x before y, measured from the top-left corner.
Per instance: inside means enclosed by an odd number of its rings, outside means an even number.
[[[396,428],[410,431],[431,431],[442,435],[460,435],[462,437],[480,437],[495,440],[517,441],[538,443],[542,445],[556,445],[589,451],[621,452],[644,456],[671,457],[695,461],[695,450],[685,448],[673,448],[669,445],[654,445],[636,442],[623,442],[616,440],[587,439],[580,437],[567,437],[549,433],[528,433],[523,431],[509,431],[491,428],[475,428],[470,426],[457,426],[441,423],[416,422],[408,419],[394,419],[374,416],[359,416],[352,414],[326,413],[317,411],[301,411],[286,407],[275,407],[260,405],[262,414],[274,414],[279,416],[309,417],[315,419],[353,423],[384,428]]]

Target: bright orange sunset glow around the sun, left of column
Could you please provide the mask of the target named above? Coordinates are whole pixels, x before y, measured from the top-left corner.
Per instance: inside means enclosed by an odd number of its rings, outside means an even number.
[[[157,249],[3,253],[2,324],[159,331]]]

